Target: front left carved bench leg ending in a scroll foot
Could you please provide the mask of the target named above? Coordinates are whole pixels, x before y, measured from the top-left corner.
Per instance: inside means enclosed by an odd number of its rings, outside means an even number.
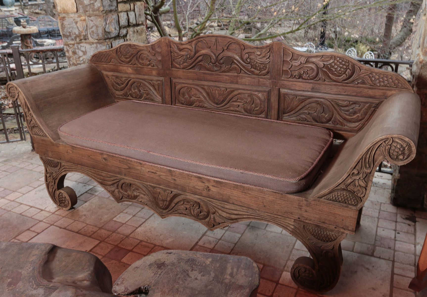
[[[67,171],[61,161],[40,156],[44,164],[44,182],[50,199],[61,209],[68,210],[77,203],[76,192],[64,187]]]

